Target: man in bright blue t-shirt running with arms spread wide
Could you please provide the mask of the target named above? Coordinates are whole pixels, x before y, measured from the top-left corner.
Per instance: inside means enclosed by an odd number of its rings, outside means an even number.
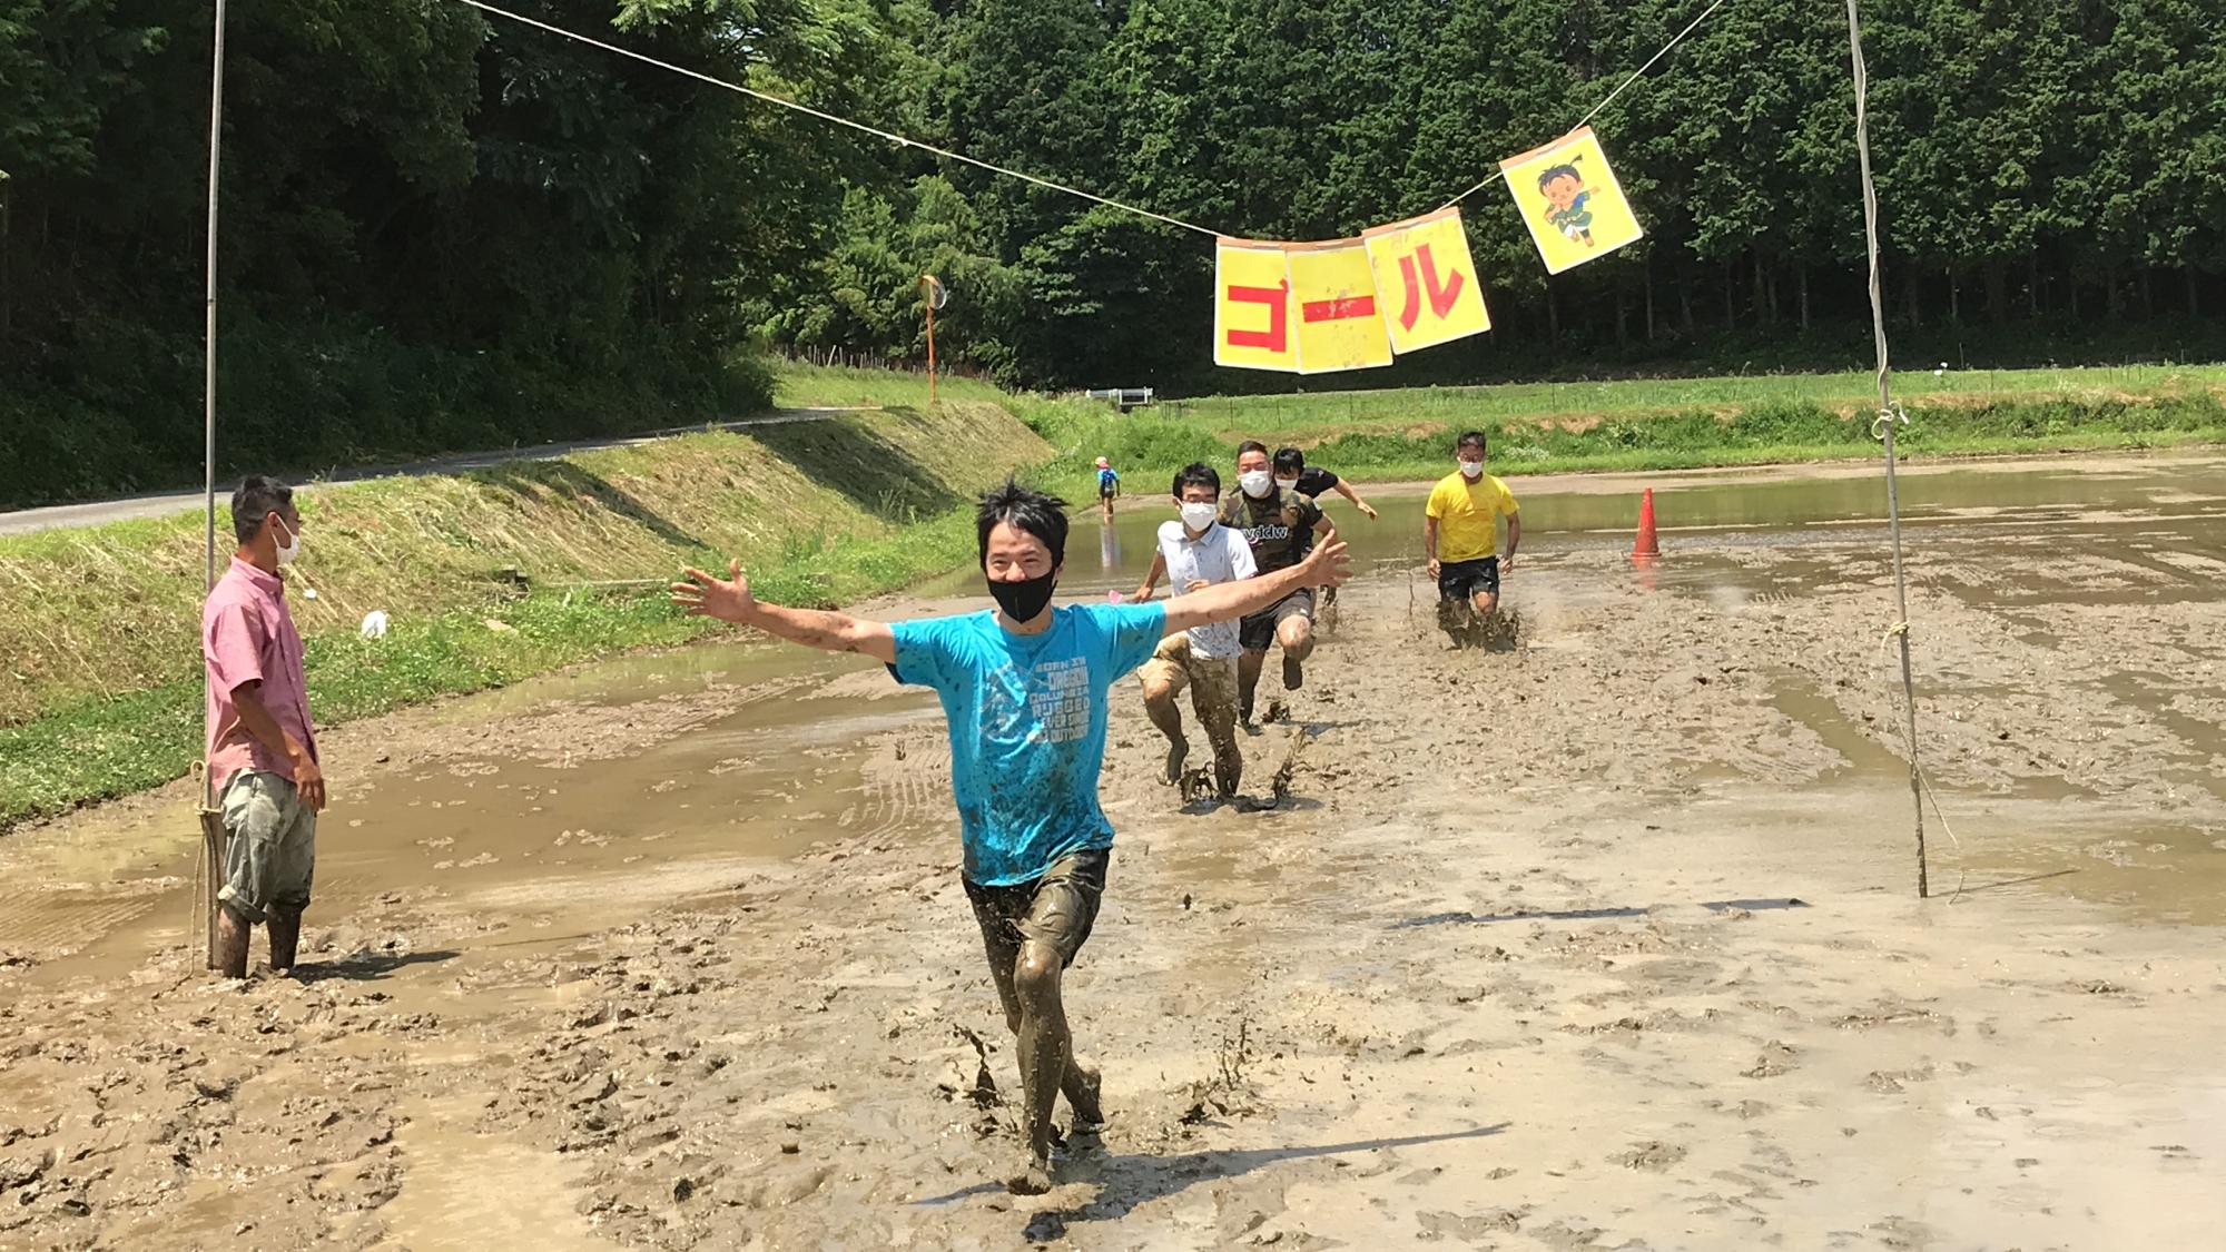
[[[1051,1187],[1051,1112],[1060,1092],[1075,1127],[1104,1121],[1097,1072],[1073,1058],[1060,976],[1097,920],[1113,826],[1097,806],[1106,688],[1162,637],[1233,622],[1298,588],[1345,579],[1345,544],[1284,570],[1160,604],[1051,604],[1066,559],[1066,501],[1006,479],[975,515],[995,610],[919,622],[759,604],[741,577],[688,570],[672,599],[697,617],[884,662],[897,682],[933,686],[951,728],[951,791],[966,851],[962,882],[988,951],[1004,1018],[1020,1038],[1028,1165],[1011,1187]]]

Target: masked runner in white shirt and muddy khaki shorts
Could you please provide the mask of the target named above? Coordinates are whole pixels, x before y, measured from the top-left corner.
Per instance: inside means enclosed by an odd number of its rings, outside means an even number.
[[[1151,557],[1144,586],[1135,590],[1140,601],[1151,599],[1162,575],[1182,595],[1258,573],[1251,544],[1218,519],[1220,495],[1222,477],[1213,466],[1191,463],[1175,475],[1175,508],[1182,517],[1160,526],[1160,550]],[[1222,800],[1235,795],[1238,780],[1244,777],[1244,755],[1238,751],[1240,651],[1235,622],[1209,622],[1160,639],[1160,648],[1137,671],[1144,679],[1144,711],[1169,742],[1166,780],[1182,782],[1182,762],[1191,753],[1191,742],[1182,735],[1182,711],[1175,706],[1175,697],[1189,686],[1191,708],[1213,744],[1213,782]]]

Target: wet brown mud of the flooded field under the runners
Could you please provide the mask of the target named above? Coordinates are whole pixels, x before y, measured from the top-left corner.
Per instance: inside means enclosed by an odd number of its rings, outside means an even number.
[[[997,1185],[942,722],[879,668],[343,728],[296,980],[189,958],[187,793],[31,831],[0,1250],[2208,1245],[2226,501],[2155,481],[1912,546],[1925,902],[1859,528],[1540,532],[1458,653],[1387,552],[1269,666],[1242,804],[1122,684],[1066,982],[1111,1125],[1046,1196]]]

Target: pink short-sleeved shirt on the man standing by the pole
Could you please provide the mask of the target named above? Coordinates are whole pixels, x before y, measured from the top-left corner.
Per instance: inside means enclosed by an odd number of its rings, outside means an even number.
[[[209,777],[218,793],[243,769],[294,777],[294,762],[269,751],[232,704],[243,682],[260,682],[263,708],[278,726],[316,755],[309,693],[301,668],[301,630],[285,608],[278,575],[234,557],[200,610],[200,659],[209,666]]]

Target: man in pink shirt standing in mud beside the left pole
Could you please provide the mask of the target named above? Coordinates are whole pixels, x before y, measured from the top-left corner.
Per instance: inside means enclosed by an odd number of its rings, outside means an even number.
[[[232,532],[240,546],[200,610],[200,657],[209,666],[209,784],[232,833],[216,893],[216,960],[225,976],[245,978],[256,922],[269,927],[272,971],[294,969],[325,775],[280,575],[301,555],[294,488],[243,481],[232,492]]]

